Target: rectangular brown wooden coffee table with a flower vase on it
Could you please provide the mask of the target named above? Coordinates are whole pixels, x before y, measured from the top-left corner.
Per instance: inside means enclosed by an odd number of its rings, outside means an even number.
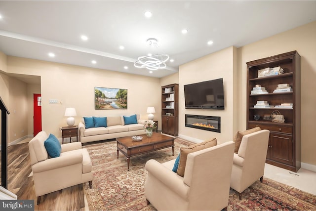
[[[174,155],[174,139],[173,137],[162,135],[154,132],[152,137],[146,134],[139,135],[143,139],[141,141],[133,141],[132,136],[117,138],[117,151],[120,151],[127,157],[127,169],[129,170],[130,157],[153,152],[159,149],[172,147],[172,155]]]

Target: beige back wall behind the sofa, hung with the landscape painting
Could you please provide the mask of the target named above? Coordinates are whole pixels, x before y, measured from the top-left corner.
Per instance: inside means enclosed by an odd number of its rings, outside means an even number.
[[[57,137],[61,137],[59,127],[67,126],[64,117],[67,107],[76,108],[76,124],[83,116],[140,114],[147,119],[148,106],[161,107],[157,78],[13,56],[7,56],[7,72],[41,77],[42,129]],[[127,89],[128,109],[94,110],[95,86]],[[49,99],[57,99],[58,103],[49,104]],[[157,109],[155,119],[159,122],[160,116]]]

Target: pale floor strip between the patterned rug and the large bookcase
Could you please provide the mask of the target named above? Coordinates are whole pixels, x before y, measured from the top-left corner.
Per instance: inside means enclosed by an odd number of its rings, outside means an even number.
[[[265,177],[316,195],[315,171],[301,168],[294,172],[266,164],[263,179]]]

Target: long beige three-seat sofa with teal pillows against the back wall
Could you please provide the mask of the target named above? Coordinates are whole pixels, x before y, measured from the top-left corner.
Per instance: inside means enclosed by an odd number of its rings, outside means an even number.
[[[145,121],[139,119],[136,115],[137,124],[124,124],[123,116],[107,117],[107,127],[85,128],[84,120],[79,123],[79,141],[87,143],[91,141],[100,141],[112,138],[120,138],[131,135],[145,134]]]

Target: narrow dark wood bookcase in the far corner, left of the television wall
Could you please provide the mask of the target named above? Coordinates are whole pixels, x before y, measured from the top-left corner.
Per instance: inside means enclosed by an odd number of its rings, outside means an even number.
[[[179,84],[161,86],[161,132],[178,136]]]

